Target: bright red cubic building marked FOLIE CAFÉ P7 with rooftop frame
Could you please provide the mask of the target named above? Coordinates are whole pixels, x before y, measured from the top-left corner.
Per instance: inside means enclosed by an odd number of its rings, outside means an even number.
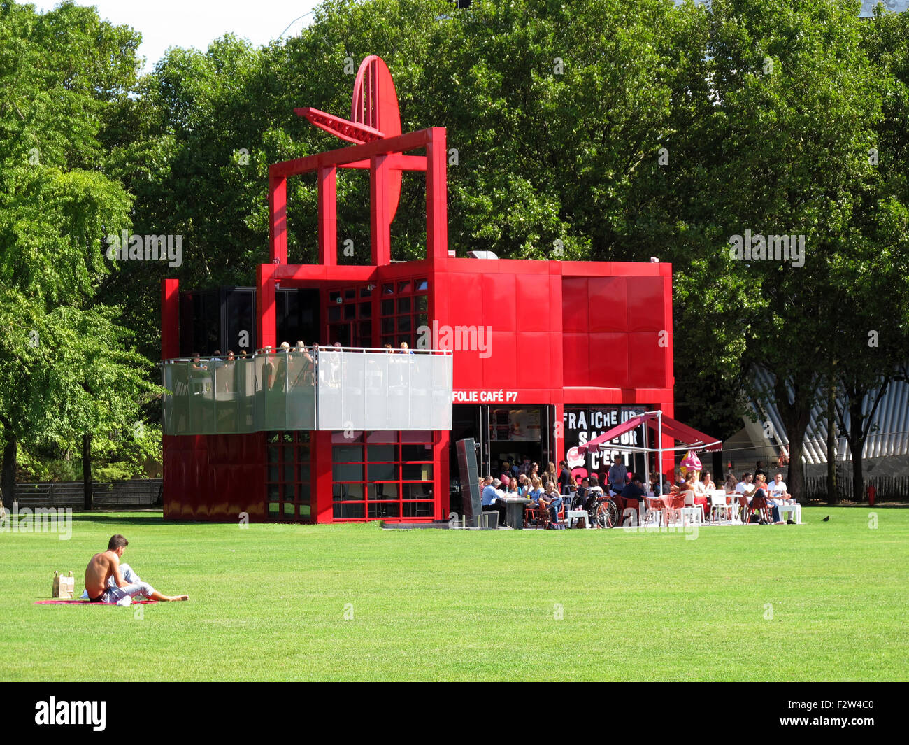
[[[445,129],[399,134],[393,96],[385,64],[367,58],[351,120],[298,110],[355,144],[270,168],[270,257],[258,267],[250,346],[294,345],[295,338],[278,335],[276,308],[281,293],[296,291],[313,335],[304,341],[345,347],[330,353],[340,360],[340,384],[328,382],[325,352],[319,356],[322,377],[306,378],[298,389],[286,382],[291,376],[281,378],[294,361],[275,353],[229,371],[215,360],[194,378],[193,363],[185,359],[192,313],[181,314],[177,281],[163,282],[163,357],[176,360],[165,362],[165,386],[173,394],[165,405],[165,518],[445,519],[457,477],[456,439],[477,440],[483,472],[498,459],[522,455],[543,470],[547,461],[558,463],[566,452],[574,456],[573,446],[634,413],[660,408],[672,416],[670,265],[455,257],[462,249],[450,252],[447,243]],[[368,266],[337,263],[339,167],[370,171]],[[403,171],[425,172],[426,257],[392,263],[390,225]],[[306,173],[317,179],[319,263],[289,265],[285,184]],[[402,342],[418,354],[387,361],[407,363],[409,384],[395,378],[405,367],[366,379],[368,365],[385,362],[381,351],[346,348],[398,348]],[[420,354],[426,347],[450,355]],[[424,378],[430,382],[420,382]],[[282,381],[277,393],[275,380]],[[430,400],[435,404],[422,403]],[[379,418],[376,406],[387,408]],[[342,409],[354,414],[335,416]],[[361,411],[367,413],[361,417]],[[360,428],[380,420],[409,424]],[[603,465],[591,460],[598,457],[569,458],[570,465],[602,473]],[[633,458],[643,456],[626,458],[634,468]]]

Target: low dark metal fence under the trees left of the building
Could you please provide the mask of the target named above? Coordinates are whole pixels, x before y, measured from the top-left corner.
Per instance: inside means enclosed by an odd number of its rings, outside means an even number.
[[[162,480],[139,478],[131,481],[93,481],[92,502],[96,509],[141,507],[161,504]],[[15,501],[20,508],[85,507],[85,485],[82,481],[44,484],[16,484]],[[10,508],[11,505],[6,505]]]

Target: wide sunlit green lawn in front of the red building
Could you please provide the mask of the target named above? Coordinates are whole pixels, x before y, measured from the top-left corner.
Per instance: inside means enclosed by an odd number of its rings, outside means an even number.
[[[694,540],[75,515],[0,533],[0,680],[904,680],[909,509],[869,514]],[[190,602],[33,605],[118,532]]]

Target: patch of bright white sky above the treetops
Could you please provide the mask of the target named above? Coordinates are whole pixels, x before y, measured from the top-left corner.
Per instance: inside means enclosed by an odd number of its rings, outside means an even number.
[[[40,11],[52,10],[56,2],[31,0]],[[114,25],[130,25],[142,33],[139,55],[145,57],[143,72],[151,72],[168,46],[205,50],[227,33],[263,45],[292,25],[290,34],[308,25],[308,14],[318,0],[77,0],[75,5],[95,5],[98,15]]]

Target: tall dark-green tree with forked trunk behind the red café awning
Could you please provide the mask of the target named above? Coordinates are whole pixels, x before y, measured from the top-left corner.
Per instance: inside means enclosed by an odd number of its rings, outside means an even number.
[[[690,45],[666,144],[675,165],[663,172],[667,196],[652,194],[634,226],[643,241],[662,224],[674,243],[675,338],[684,329],[694,348],[729,363],[724,378],[775,400],[796,497],[836,329],[857,322],[839,301],[850,292],[863,303],[870,290],[854,245],[871,238],[861,206],[881,95],[857,9],[840,0],[681,8]],[[795,237],[804,255],[768,260],[779,236]],[[774,381],[769,390],[751,383],[755,370]]]

